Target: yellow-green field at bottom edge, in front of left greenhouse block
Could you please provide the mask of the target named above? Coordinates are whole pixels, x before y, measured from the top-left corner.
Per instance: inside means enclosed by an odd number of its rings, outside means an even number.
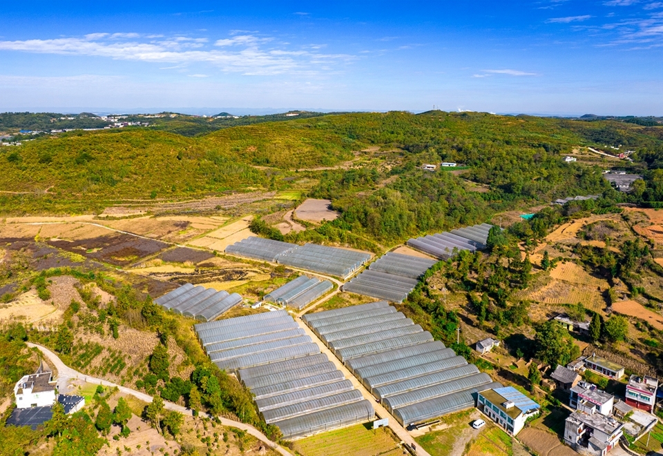
[[[387,428],[373,430],[371,424],[357,424],[349,428],[296,440],[294,450],[302,456],[396,456],[403,450]]]

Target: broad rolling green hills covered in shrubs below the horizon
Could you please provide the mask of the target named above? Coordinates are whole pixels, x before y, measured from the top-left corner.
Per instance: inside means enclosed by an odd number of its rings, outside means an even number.
[[[599,170],[564,163],[561,158],[573,147],[622,144],[637,150],[634,157],[644,167],[663,157],[661,130],[615,121],[431,111],[309,117],[225,128],[203,137],[151,128],[70,132],[0,148],[0,211],[61,211],[68,201],[84,210],[102,200],[269,188],[271,169],[334,166],[367,146],[401,151],[402,168],[392,175],[410,176],[421,163],[457,161],[469,167],[465,179],[490,188],[483,200],[550,201],[604,188]],[[346,177],[325,176],[319,195],[347,196],[340,191]],[[460,182],[458,177],[452,181]]]

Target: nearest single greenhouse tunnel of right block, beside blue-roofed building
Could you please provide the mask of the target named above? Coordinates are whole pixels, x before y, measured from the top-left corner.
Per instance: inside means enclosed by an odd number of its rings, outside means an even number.
[[[417,424],[426,422],[430,419],[447,415],[448,413],[458,412],[471,408],[477,405],[477,393],[482,390],[500,388],[502,384],[494,382],[491,384],[483,385],[479,388],[472,388],[470,390],[459,391],[434,399],[427,399],[416,404],[396,408],[393,415],[396,421],[401,423],[401,426],[410,426],[410,424]]]

